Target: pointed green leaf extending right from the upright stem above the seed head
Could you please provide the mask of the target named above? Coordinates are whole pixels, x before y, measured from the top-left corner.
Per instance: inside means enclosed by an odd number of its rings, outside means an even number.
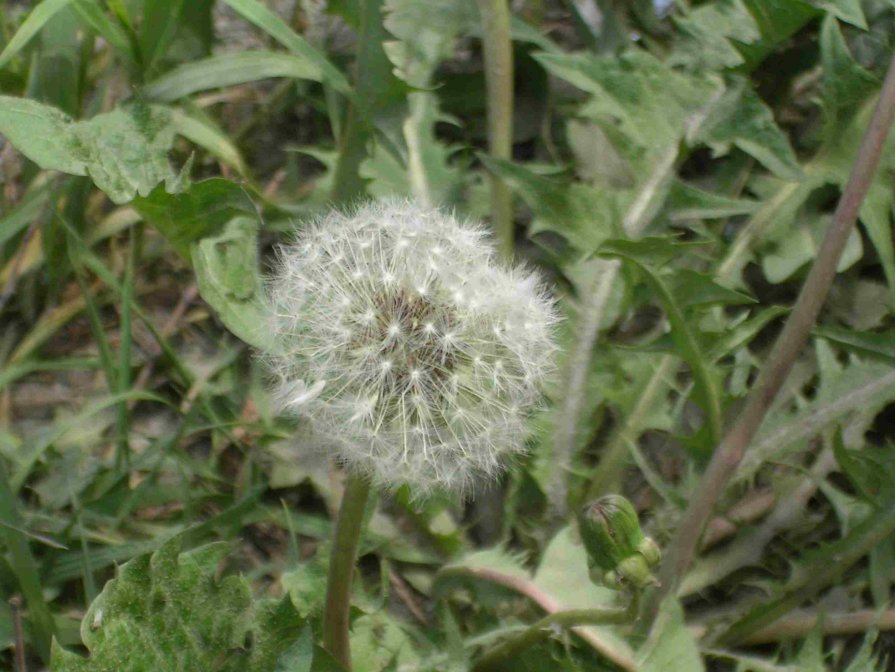
[[[552,231],[583,252],[595,250],[611,237],[618,213],[605,191],[583,184],[564,184],[537,175],[511,161],[480,154],[479,158],[532,209],[530,234]]]

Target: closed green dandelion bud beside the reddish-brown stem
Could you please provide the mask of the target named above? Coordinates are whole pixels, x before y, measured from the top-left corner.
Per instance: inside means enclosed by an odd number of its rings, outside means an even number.
[[[578,514],[591,578],[612,588],[643,588],[656,580],[651,568],[661,559],[659,547],[643,535],[637,512],[621,495],[606,495]]]

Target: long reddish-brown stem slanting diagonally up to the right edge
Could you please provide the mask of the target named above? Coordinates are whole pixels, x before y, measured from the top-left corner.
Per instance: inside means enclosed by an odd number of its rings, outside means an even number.
[[[895,116],[895,58],[889,65],[873,120],[864,135],[848,184],[792,313],[774,344],[758,380],[749,392],[743,411],[715,450],[702,483],[696,489],[695,496],[690,500],[678,525],[671,548],[662,563],[659,575],[661,588],[650,601],[650,615],[655,614],[659,602],[668,591],[677,589],[681,577],[693,560],[702,530],[712,514],[715,502],[743,459],[746,448],[761,426],[765,414],[808,339],[808,334],[833,283],[837,262],[854,227],[858,209],[873,180],[893,116]]]

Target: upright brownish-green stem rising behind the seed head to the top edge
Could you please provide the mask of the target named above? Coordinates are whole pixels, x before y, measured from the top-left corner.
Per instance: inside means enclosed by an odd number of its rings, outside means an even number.
[[[488,150],[510,160],[513,151],[513,42],[507,0],[479,0],[482,48],[488,90]],[[510,189],[491,174],[491,223],[500,255],[513,256],[513,207]]]

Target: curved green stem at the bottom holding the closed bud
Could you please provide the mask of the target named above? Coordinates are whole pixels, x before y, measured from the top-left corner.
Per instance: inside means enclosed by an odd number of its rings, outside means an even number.
[[[523,632],[490,649],[472,667],[472,672],[490,672],[525,649],[537,644],[554,632],[555,628],[574,628],[578,625],[609,625],[630,623],[637,617],[639,595],[633,593],[630,604],[622,609],[569,609],[545,616]]]

